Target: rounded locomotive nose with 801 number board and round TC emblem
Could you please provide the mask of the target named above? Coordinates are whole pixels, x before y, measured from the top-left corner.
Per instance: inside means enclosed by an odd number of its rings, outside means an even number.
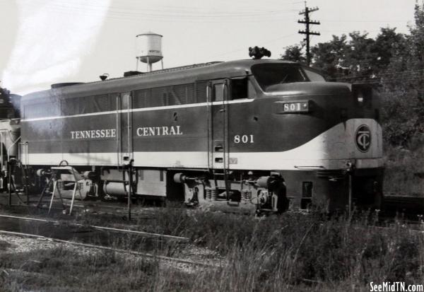
[[[330,168],[346,168],[350,159],[382,156],[378,107],[366,90],[324,82],[278,84],[273,89],[270,110],[282,132],[298,141],[285,144],[300,146],[300,157],[319,158],[329,162],[326,167]]]

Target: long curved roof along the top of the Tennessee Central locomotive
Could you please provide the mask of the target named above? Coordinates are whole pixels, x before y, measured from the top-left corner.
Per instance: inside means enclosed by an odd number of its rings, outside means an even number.
[[[184,83],[194,83],[196,81],[206,81],[218,78],[231,78],[237,76],[247,76],[251,74],[251,67],[254,64],[284,63],[295,64],[294,62],[275,59],[245,59],[230,62],[210,62],[204,64],[194,64],[181,66],[134,76],[110,78],[105,81],[93,81],[80,83],[72,86],[52,88],[35,93],[29,93],[23,100],[33,100],[48,97],[76,97],[84,95],[100,95],[114,92],[127,92],[143,88],[155,88],[160,86],[172,86]]]

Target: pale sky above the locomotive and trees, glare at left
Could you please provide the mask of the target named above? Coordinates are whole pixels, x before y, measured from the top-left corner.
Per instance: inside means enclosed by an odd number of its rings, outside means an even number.
[[[422,1],[422,0],[419,0]],[[419,2],[421,3],[421,2]],[[408,33],[416,0],[309,0],[311,45],[331,35],[379,28]],[[163,35],[165,68],[247,59],[266,47],[271,59],[305,37],[305,1],[290,0],[0,0],[0,86],[26,94],[52,83],[98,81],[102,74],[146,71],[136,35]],[[153,70],[161,69],[160,63]]]

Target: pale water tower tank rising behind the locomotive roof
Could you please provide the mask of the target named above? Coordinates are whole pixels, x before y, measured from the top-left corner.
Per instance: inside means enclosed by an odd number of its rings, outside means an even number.
[[[152,32],[136,35],[136,59],[146,63],[149,72],[152,71],[152,64],[158,61],[163,69],[162,35]]]

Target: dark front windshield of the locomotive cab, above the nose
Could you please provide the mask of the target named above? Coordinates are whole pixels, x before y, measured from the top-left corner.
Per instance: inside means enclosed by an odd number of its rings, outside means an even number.
[[[280,83],[309,81],[298,64],[257,64],[252,73],[264,91],[272,91],[271,86]]]

